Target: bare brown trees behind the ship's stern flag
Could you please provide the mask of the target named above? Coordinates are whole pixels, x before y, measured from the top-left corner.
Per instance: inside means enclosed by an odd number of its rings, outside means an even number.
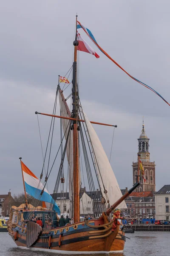
[[[24,193],[19,193],[17,195],[14,195],[13,198],[16,202],[17,207],[19,207],[21,204],[26,203],[26,197]],[[28,204],[32,204],[34,207],[42,206],[42,201],[35,199],[33,196],[29,194],[27,194],[27,201],[28,201]]]

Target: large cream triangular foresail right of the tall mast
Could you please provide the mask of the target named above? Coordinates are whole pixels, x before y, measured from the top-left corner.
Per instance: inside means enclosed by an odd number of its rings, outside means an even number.
[[[88,134],[91,139],[92,144],[92,150],[94,153],[94,161],[96,164],[96,170],[99,177],[99,183],[101,186],[102,194],[107,202],[106,195],[104,193],[104,186],[105,189],[108,191],[107,195],[109,198],[109,204],[114,204],[119,198],[122,197],[122,192],[119,188],[118,182],[116,180],[116,177],[113,173],[113,170],[111,168],[111,164],[109,163],[108,157],[105,154],[105,151],[102,147],[102,144],[91,125],[91,122],[89,121],[88,117],[85,115],[85,123],[87,126]],[[104,184],[104,186],[103,186]],[[123,201],[118,207],[120,209],[125,209],[126,203]]]

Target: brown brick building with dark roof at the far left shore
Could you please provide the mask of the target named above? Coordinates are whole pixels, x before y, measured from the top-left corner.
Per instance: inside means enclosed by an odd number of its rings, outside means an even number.
[[[8,192],[8,195],[0,195],[0,207],[2,208],[2,214],[4,217],[9,216],[10,208],[13,205],[16,205],[16,202],[11,196],[11,192]]]

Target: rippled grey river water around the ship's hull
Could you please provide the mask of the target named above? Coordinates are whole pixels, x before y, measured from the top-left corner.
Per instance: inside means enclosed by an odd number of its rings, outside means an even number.
[[[126,239],[124,253],[112,253],[109,256],[170,256],[169,232],[136,231],[134,234],[126,234],[126,236],[130,240]],[[8,233],[0,232],[0,256],[60,256],[60,253],[29,251],[17,248]],[[88,256],[90,255],[88,254]],[[101,255],[96,254],[96,256]]]

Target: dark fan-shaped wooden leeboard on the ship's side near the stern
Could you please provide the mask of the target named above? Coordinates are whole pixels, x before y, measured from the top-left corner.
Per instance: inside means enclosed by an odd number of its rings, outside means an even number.
[[[26,247],[30,247],[37,241],[40,233],[42,232],[42,227],[33,221],[28,221],[27,223],[27,233],[26,233]]]

